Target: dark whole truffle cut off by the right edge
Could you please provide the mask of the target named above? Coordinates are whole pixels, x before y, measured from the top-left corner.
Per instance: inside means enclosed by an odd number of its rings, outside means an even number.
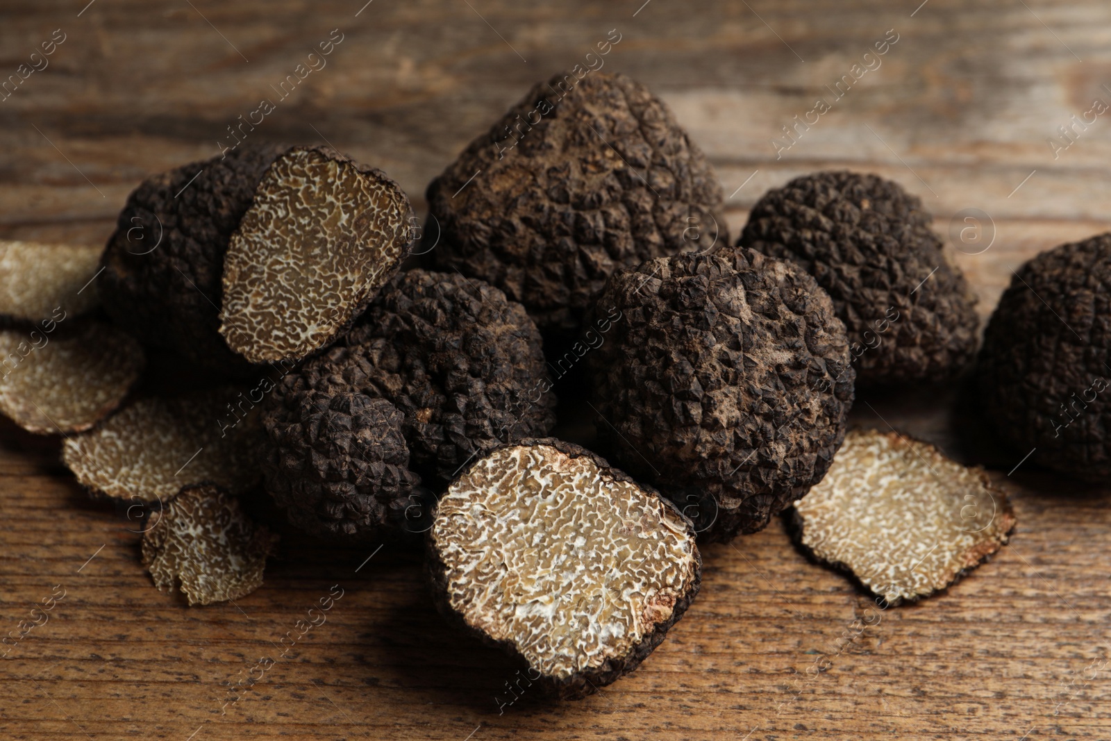
[[[1042,252],[991,316],[978,381],[1018,455],[1089,480],[1111,475],[1111,233]]]

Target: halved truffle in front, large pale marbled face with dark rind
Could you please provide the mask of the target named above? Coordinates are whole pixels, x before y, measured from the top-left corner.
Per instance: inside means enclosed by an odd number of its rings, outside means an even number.
[[[489,453],[451,484],[428,569],[449,619],[579,698],[660,644],[698,593],[701,559],[690,521],[654,490],[541,439]]]

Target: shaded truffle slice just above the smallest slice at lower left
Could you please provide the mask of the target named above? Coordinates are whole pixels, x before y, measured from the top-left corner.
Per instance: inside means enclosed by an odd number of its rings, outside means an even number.
[[[184,485],[239,494],[258,483],[258,414],[228,411],[236,392],[213,389],[140,399],[96,430],[68,439],[62,459],[77,480],[114,498],[168,501]]]

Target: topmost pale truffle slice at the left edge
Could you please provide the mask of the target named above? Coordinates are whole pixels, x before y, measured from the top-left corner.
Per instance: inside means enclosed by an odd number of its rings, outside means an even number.
[[[56,309],[67,318],[93,309],[99,298],[92,279],[103,251],[103,246],[0,240],[0,316],[57,321]]]

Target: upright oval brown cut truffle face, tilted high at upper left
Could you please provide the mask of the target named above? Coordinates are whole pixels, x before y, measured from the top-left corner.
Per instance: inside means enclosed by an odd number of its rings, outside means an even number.
[[[329,344],[397,272],[412,208],[381,170],[294,148],[259,183],[223,263],[220,333],[251,362]]]

